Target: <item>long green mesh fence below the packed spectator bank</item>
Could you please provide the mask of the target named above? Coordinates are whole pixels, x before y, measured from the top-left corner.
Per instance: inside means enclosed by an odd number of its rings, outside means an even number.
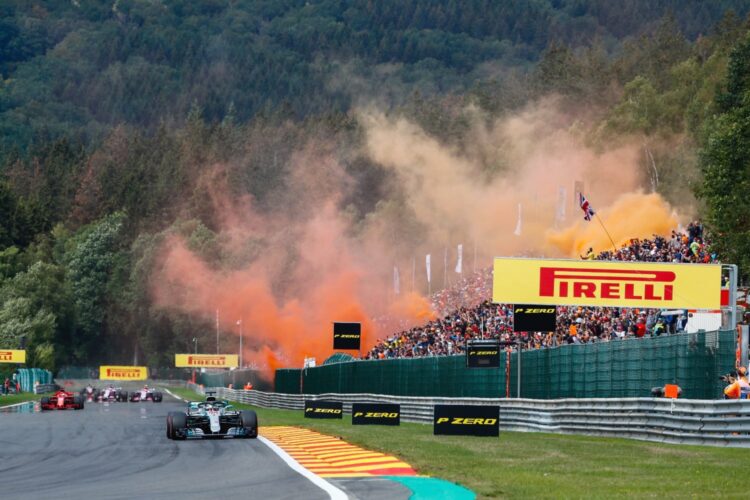
[[[682,397],[721,397],[719,377],[734,367],[733,331],[614,340],[524,351],[521,396],[536,399],[647,397],[675,383]],[[510,355],[510,396],[517,396],[517,354]],[[300,374],[300,372],[303,372]],[[276,392],[374,393],[435,397],[506,396],[500,368],[467,368],[464,356],[336,363],[277,370]]]

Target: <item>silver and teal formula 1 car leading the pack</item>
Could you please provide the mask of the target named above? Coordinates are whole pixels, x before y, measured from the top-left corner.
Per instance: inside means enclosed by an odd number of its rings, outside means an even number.
[[[252,410],[235,410],[227,401],[208,396],[188,403],[187,411],[167,415],[167,437],[187,438],[258,437],[258,416]]]

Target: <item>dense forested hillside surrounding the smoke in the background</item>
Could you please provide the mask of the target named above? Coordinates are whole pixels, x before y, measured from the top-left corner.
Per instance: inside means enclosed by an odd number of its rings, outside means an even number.
[[[208,167],[272,213],[290,202],[298,149],[325,143],[354,179],[339,203],[366,219],[399,193],[360,152],[361,106],[460,149],[467,109],[491,120],[555,95],[587,111],[592,147],[638,137],[657,190],[697,199],[747,275],[748,12],[741,0],[2,2],[0,347],[25,343],[30,364],[55,369],[168,366],[193,337],[209,345],[211,318],[149,295],[170,235],[236,265],[219,250]]]

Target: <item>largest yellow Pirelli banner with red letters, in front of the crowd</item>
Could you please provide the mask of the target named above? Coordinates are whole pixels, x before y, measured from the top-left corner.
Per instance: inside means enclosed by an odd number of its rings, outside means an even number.
[[[492,299],[506,304],[719,309],[721,266],[496,258]]]

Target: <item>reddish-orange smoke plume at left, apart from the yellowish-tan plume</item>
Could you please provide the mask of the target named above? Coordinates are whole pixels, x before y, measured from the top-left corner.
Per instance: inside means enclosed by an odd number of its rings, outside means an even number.
[[[226,210],[226,200],[221,206]],[[245,203],[241,207],[250,209]],[[322,363],[333,352],[335,321],[362,324],[363,351],[390,333],[378,331],[371,319],[383,314],[387,303],[387,289],[373,286],[382,283],[377,270],[384,266],[374,260],[381,250],[364,251],[348,238],[347,225],[332,203],[305,221],[272,225],[259,224],[257,215],[250,218],[252,230],[233,216],[222,218],[233,221],[223,231],[231,231],[230,247],[238,246],[241,237],[271,242],[238,269],[211,268],[182,237],[169,237],[152,279],[156,305],[205,318],[218,310],[222,332],[233,335],[239,334],[237,321],[242,320],[243,358],[268,376],[277,367],[302,366],[305,357]],[[274,291],[279,283],[285,291]],[[430,315],[428,303],[418,296],[407,295],[390,308],[406,323]]]

